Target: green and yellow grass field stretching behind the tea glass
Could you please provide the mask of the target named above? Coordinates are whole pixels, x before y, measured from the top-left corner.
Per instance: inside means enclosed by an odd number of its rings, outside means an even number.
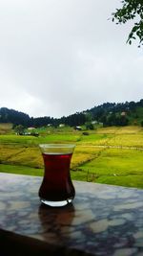
[[[0,135],[0,172],[43,175],[38,145],[74,143],[72,179],[143,188],[143,128],[98,128],[87,136],[72,128],[41,128],[39,137],[15,135],[10,128],[3,126]]]

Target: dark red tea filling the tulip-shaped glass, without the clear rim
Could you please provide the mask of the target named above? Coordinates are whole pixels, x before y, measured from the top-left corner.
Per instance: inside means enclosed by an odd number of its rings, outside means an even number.
[[[45,165],[39,197],[50,201],[74,198],[75,191],[70,175],[72,153],[42,153]]]

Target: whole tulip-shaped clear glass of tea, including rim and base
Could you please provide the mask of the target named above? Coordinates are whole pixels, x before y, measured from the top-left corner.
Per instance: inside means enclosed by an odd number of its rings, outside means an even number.
[[[70,166],[73,144],[40,144],[44,160],[44,177],[39,189],[41,202],[49,206],[65,206],[72,202],[75,190]]]

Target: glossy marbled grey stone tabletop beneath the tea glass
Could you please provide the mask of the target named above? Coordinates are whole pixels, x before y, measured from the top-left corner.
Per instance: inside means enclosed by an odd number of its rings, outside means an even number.
[[[143,190],[73,181],[72,204],[51,208],[38,198],[41,182],[38,176],[0,174],[5,242],[14,235],[17,244],[42,243],[54,255],[143,256]]]

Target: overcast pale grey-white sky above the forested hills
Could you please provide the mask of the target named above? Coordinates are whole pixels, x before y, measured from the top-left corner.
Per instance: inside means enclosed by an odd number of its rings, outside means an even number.
[[[143,98],[143,50],[120,0],[1,0],[0,107],[61,117]]]

